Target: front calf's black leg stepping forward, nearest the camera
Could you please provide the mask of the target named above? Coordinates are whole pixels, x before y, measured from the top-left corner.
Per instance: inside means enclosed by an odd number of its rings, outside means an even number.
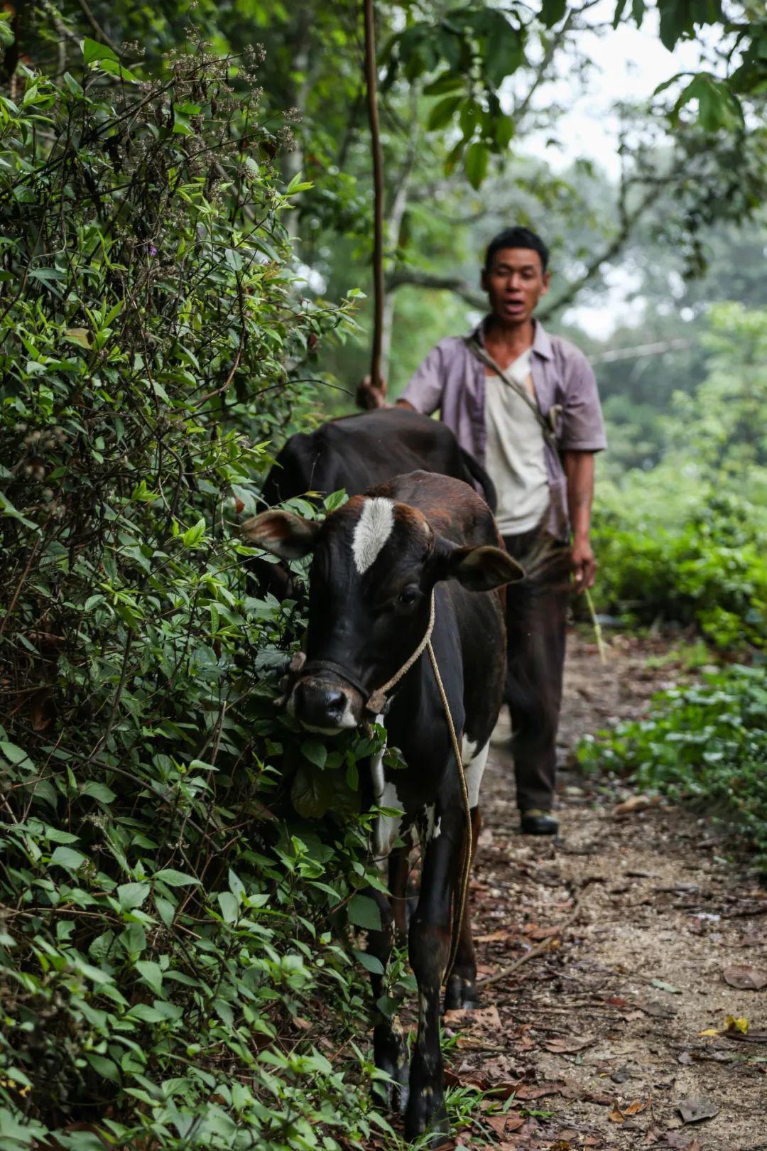
[[[409,931],[411,967],[419,985],[419,1029],[411,1062],[405,1137],[413,1139],[432,1128],[432,1146],[439,1146],[443,1142],[439,1133],[448,1129],[439,1045],[439,1000],[450,959],[453,892],[459,883],[463,847],[461,814],[460,801],[458,813],[455,803],[445,805],[442,810],[439,834],[432,836],[425,848],[421,894]]]

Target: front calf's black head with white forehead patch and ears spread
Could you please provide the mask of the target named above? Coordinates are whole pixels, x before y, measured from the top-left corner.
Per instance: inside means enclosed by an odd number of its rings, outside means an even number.
[[[438,580],[489,592],[522,577],[500,548],[459,547],[382,496],[353,496],[324,523],[262,512],[243,535],[282,559],[313,555],[306,663],[287,710],[328,734],[356,727],[370,694],[417,648]]]

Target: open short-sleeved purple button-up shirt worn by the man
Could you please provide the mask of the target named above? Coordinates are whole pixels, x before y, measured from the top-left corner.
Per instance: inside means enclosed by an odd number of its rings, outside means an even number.
[[[486,319],[476,328],[484,343]],[[559,451],[601,451],[607,447],[597,381],[583,352],[567,340],[550,336],[535,321],[530,357],[532,386],[544,417],[559,406],[554,435]],[[455,433],[458,442],[485,462],[485,365],[467,346],[462,336],[440,340],[417,368],[399,397],[417,412],[440,418]],[[546,527],[558,538],[569,534],[567,480],[559,452],[544,441],[551,500]],[[491,477],[492,479],[493,477]]]

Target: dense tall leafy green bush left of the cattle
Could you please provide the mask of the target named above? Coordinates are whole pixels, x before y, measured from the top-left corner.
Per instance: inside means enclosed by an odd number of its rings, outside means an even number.
[[[301,619],[232,520],[347,310],[296,292],[258,90],[84,52],[0,97],[0,1144],[330,1151],[383,1123],[376,737],[319,763],[275,712]]]

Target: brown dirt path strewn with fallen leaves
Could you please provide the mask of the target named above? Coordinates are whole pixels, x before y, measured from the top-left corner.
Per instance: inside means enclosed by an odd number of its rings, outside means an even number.
[[[558,844],[516,833],[511,760],[493,748],[473,884],[480,974],[540,953],[488,986],[473,1016],[446,1020],[461,1031],[451,1082],[509,1100],[458,1145],[767,1149],[767,1042],[754,1035],[767,1039],[767,988],[722,974],[767,968],[767,891],[706,822],[666,806],[616,815],[624,786],[567,770],[580,735],[638,714],[674,677],[649,671],[650,654],[618,641],[600,669],[572,643]],[[728,1016],[747,1019],[750,1038],[701,1036]],[[680,1106],[712,1118],[683,1122]]]

